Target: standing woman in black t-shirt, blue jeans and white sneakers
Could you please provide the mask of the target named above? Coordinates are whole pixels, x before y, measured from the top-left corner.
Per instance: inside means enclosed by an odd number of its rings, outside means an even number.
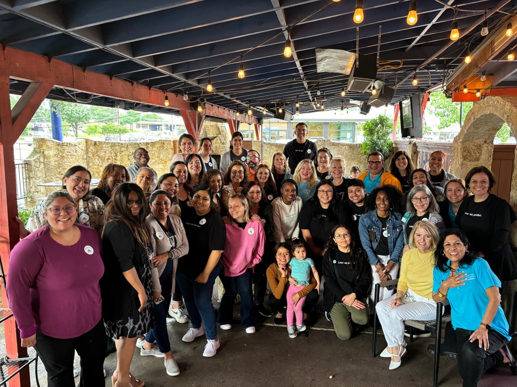
[[[206,329],[207,344],[203,356],[212,357],[219,348],[212,290],[220,269],[220,258],[226,242],[226,229],[212,201],[214,192],[206,185],[194,191],[192,207],[181,214],[189,252],[178,260],[176,281],[185,299],[192,328],[183,336],[192,342]]]

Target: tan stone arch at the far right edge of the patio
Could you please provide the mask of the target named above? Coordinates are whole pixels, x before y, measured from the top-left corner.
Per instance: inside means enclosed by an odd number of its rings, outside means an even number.
[[[468,112],[461,131],[452,144],[451,172],[457,176],[465,176],[478,165],[490,168],[494,151],[494,137],[497,131],[507,123],[517,138],[517,96],[488,96],[475,102]],[[517,165],[517,148],[515,148],[515,165]],[[517,208],[517,168],[512,173],[510,205]],[[517,222],[515,222],[517,223]],[[513,225],[515,231],[517,225]],[[511,237],[517,246],[517,233]]]

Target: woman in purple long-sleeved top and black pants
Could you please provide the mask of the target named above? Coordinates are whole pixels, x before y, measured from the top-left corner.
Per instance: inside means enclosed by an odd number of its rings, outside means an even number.
[[[52,192],[42,208],[47,225],[21,240],[9,257],[7,296],[21,346],[35,348],[49,387],[75,385],[74,350],[81,357],[79,385],[104,385],[99,234],[75,223],[77,205],[67,191]]]

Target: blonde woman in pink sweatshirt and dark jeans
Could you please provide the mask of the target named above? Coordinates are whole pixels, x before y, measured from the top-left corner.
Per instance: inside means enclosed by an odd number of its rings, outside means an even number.
[[[253,267],[264,254],[265,233],[260,220],[250,220],[248,200],[238,193],[228,201],[229,224],[226,225],[226,246],[223,252],[223,269],[220,275],[224,295],[219,307],[221,329],[232,328],[233,305],[240,295],[240,322],[246,333],[255,333],[255,315],[251,276]]]

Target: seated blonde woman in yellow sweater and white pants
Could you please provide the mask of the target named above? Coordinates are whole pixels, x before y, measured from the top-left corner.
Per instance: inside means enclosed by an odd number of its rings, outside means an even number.
[[[436,316],[432,291],[434,251],[438,239],[438,229],[433,223],[415,223],[409,235],[410,250],[402,256],[397,294],[375,305],[388,343],[381,357],[391,358],[389,369],[400,367],[401,358],[406,353],[404,320],[432,320]]]

